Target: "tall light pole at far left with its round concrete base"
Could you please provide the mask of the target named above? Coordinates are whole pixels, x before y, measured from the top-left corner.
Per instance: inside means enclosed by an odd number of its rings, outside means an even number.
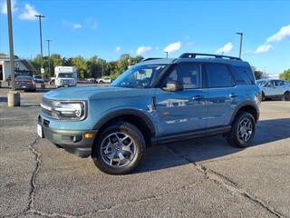
[[[20,106],[20,94],[15,92],[14,47],[13,47],[11,0],[7,0],[6,4],[7,4],[7,16],[8,16],[8,34],[9,34],[9,52],[10,52],[11,88],[12,88],[12,92],[9,92],[7,94],[7,99],[8,99],[8,106]]]

